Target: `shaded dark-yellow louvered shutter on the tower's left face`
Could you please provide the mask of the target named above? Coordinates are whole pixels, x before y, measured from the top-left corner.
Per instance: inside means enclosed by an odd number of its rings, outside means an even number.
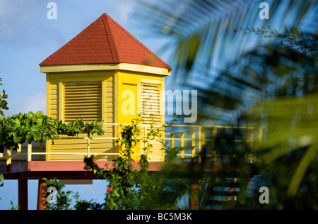
[[[102,82],[64,83],[64,122],[102,121]]]

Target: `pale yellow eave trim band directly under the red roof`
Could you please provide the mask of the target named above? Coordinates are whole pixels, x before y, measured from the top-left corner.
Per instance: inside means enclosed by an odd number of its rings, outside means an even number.
[[[40,72],[88,72],[88,71],[110,71],[110,70],[124,70],[143,72],[149,74],[160,74],[163,76],[171,76],[168,69],[161,67],[152,67],[147,65],[136,64],[96,64],[96,65],[45,65],[40,67]]]

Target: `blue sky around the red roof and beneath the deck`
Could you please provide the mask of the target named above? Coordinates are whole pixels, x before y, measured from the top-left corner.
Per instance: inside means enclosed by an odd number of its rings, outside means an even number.
[[[47,18],[46,0],[0,0],[0,77],[9,110],[6,116],[46,109],[45,74],[40,73],[40,62],[59,50],[102,13],[109,14],[117,23],[134,35],[153,52],[160,47],[158,40],[149,40],[140,23],[133,20],[135,0],[55,0],[57,20]],[[154,44],[155,41],[155,44]],[[166,60],[162,57],[163,60]],[[2,90],[2,89],[1,89]],[[93,185],[67,186],[79,192],[83,199],[103,198],[105,181]],[[37,181],[29,181],[29,209],[36,208]],[[17,181],[4,181],[0,189],[0,209],[10,208],[13,200],[18,206]]]

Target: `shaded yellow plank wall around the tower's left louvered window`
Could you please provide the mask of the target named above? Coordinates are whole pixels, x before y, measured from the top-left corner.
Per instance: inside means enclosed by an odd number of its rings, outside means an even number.
[[[66,78],[67,77],[67,78]],[[83,81],[102,81],[105,83],[102,94],[105,103],[104,118],[105,123],[114,123],[114,72],[73,72],[73,73],[52,73],[47,74],[47,111],[48,116],[61,121],[63,119],[63,104],[62,99],[64,82],[83,82]],[[61,100],[60,100],[61,99]],[[87,152],[88,141],[84,139],[68,138],[61,136],[61,140],[54,140],[47,144],[49,152]],[[80,135],[81,138],[86,138],[86,135]],[[93,135],[98,137],[98,135]],[[105,127],[104,138],[114,137],[114,126],[109,125]],[[114,140],[90,140],[91,153],[115,153]],[[47,160],[83,160],[83,155],[49,155]],[[97,159],[112,160],[114,156],[96,156]]]

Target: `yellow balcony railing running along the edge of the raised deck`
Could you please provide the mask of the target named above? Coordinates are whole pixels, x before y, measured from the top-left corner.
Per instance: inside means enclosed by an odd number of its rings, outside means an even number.
[[[119,130],[118,127],[120,124],[112,124],[107,123],[106,126],[117,127],[116,130]],[[218,157],[221,157],[217,154],[217,150],[215,147],[215,140],[218,133],[222,130],[245,130],[248,139],[234,139],[235,142],[246,141],[251,146],[254,145],[255,142],[261,142],[262,140],[262,128],[249,128],[249,127],[231,127],[231,126],[213,126],[213,125],[153,125],[153,128],[163,127],[163,131],[165,132],[163,135],[163,142],[165,142],[166,147],[171,147],[179,150],[179,154],[177,155],[180,159],[196,159],[198,162],[201,162],[201,152],[202,150],[206,150],[206,157],[210,158],[210,161],[217,161]],[[139,138],[141,141],[141,150],[140,153],[135,153],[135,156],[140,156],[142,154],[146,154],[147,152],[143,152],[143,147],[145,147],[145,138],[146,133],[148,132],[150,125],[139,125],[141,128],[141,137]],[[246,135],[245,135],[246,136]],[[69,156],[85,156],[90,157],[91,155],[95,156],[115,156],[119,157],[120,152],[91,152],[90,150],[90,142],[93,140],[118,140],[117,137],[105,138],[105,137],[93,137],[93,138],[64,138],[61,137],[61,140],[86,140],[86,150],[83,152],[47,152],[46,150],[46,142],[33,142],[32,144],[28,144],[26,142],[23,145],[19,145],[19,149],[17,152],[13,152],[13,150],[6,149],[3,154],[0,154],[0,162],[6,161],[6,164],[11,164],[12,159],[14,161],[45,161],[49,155],[69,155]],[[220,140],[226,141],[226,140]],[[157,161],[164,161],[165,159],[165,151],[162,150],[162,145],[157,145],[157,150],[153,150],[153,153],[149,153],[150,157],[156,157]],[[222,157],[226,157],[222,155]],[[158,159],[159,158],[159,159]],[[252,162],[252,158],[249,158],[249,162]]]

